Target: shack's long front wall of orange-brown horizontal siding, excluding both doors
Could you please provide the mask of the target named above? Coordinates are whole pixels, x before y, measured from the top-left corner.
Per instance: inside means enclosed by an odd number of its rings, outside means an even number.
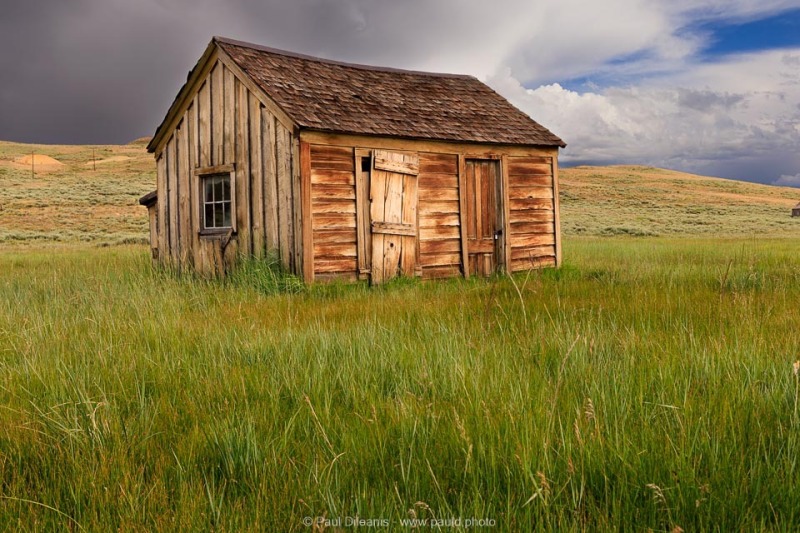
[[[315,142],[316,141],[316,142]],[[505,208],[510,270],[556,265],[558,242],[557,149],[513,148],[413,143],[401,140],[369,142],[346,136],[315,134],[310,146],[310,182],[315,279],[364,278],[361,259],[369,253],[364,235],[359,239],[357,202],[366,202],[366,190],[357,193],[357,156],[374,148],[419,154],[417,275],[443,278],[463,275],[465,234],[461,231],[463,195],[460,190],[465,158],[501,161],[507,194]],[[325,143],[325,144],[323,144]],[[363,222],[369,226],[369,220]],[[362,230],[368,233],[368,230]],[[361,241],[361,242],[359,242]],[[501,261],[505,264],[505,261]],[[360,276],[359,276],[360,274]]]

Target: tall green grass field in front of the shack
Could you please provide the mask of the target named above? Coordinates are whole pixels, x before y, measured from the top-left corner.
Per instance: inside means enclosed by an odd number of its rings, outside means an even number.
[[[6,251],[0,529],[800,528],[796,241],[564,255],[369,289]]]

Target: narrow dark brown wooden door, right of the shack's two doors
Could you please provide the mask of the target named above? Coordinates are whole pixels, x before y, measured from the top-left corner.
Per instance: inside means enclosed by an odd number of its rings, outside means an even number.
[[[467,251],[470,275],[493,274],[502,257],[498,208],[500,169],[496,160],[467,159]]]

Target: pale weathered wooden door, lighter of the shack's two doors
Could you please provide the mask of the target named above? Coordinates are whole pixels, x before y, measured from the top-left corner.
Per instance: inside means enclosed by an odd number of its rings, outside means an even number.
[[[417,259],[417,154],[376,150],[370,173],[373,284],[414,275]]]

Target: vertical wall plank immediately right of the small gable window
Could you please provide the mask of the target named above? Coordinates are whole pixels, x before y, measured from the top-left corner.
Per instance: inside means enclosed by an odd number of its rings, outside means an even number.
[[[249,91],[236,80],[236,229],[239,251],[250,255],[251,213],[250,213],[250,106]]]

